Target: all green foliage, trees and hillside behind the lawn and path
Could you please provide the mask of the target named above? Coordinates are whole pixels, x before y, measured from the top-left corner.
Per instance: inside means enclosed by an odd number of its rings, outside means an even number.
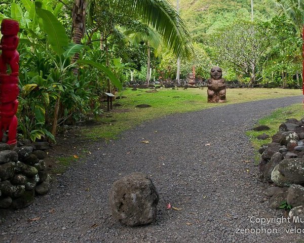
[[[102,114],[104,92],[220,65],[227,80],[299,87],[304,7],[297,0],[3,0],[20,23],[20,136]],[[188,26],[188,27],[187,27]]]

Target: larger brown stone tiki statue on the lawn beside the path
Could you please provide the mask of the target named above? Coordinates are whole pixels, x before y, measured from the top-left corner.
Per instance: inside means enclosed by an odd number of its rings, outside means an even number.
[[[223,103],[226,102],[226,85],[222,78],[222,70],[215,66],[211,68],[211,78],[208,79],[208,103]]]

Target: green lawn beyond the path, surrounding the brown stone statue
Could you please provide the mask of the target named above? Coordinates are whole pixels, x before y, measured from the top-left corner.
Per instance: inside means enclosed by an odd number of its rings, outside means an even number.
[[[287,89],[227,89],[227,102],[222,104],[207,103],[207,88],[158,89],[156,93],[147,93],[145,89],[132,91],[126,89],[113,104],[111,112],[105,112],[98,121],[100,126],[84,129],[83,135],[91,140],[115,139],[127,129],[133,128],[143,121],[163,117],[168,114],[183,113],[207,109],[214,106],[249,102],[261,99],[272,99],[285,96],[301,95],[301,90]],[[136,108],[136,105],[148,104],[148,108]]]

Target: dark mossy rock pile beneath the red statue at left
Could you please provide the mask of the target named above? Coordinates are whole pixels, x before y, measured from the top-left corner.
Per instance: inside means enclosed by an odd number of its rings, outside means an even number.
[[[20,209],[34,201],[35,194],[44,195],[50,189],[51,177],[44,171],[49,149],[47,142],[31,143],[24,139],[10,150],[0,143],[0,208]]]

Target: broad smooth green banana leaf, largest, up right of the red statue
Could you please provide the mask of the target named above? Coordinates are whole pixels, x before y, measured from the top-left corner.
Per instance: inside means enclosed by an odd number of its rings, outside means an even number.
[[[61,56],[64,53],[63,48],[68,46],[68,37],[63,25],[50,11],[42,9],[40,2],[35,2],[35,7],[37,15],[42,19],[42,27],[51,47]]]

